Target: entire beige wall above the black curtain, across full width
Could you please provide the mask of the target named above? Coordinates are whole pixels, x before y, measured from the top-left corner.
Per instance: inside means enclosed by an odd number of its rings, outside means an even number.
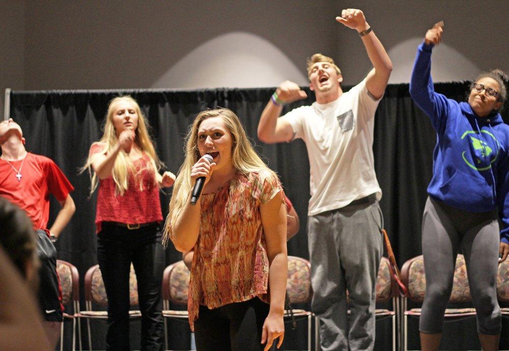
[[[336,23],[359,7],[408,82],[426,29],[445,21],[435,81],[509,71],[506,0],[0,0],[0,88],[25,90],[307,84],[305,59],[333,56],[344,84],[371,69],[358,35]],[[3,109],[0,110],[3,113]]]

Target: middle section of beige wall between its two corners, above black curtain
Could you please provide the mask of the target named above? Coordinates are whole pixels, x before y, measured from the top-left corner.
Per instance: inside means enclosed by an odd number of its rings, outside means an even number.
[[[327,36],[334,23],[306,25],[333,12],[329,3],[27,2],[26,30],[32,35],[26,37],[31,50],[25,88],[252,86],[246,74],[270,86],[280,81],[271,79],[274,68],[286,69],[272,58],[292,66],[289,78],[305,79],[299,75],[308,52],[318,46],[314,38],[325,38],[319,46],[334,49]],[[227,59],[222,67],[221,57]],[[231,57],[235,60],[228,61]],[[171,72],[176,65],[178,72]],[[188,79],[196,71],[200,77]]]

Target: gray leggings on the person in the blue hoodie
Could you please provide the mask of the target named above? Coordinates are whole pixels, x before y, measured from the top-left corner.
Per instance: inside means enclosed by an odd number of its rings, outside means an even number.
[[[477,311],[477,331],[490,335],[500,333],[501,316],[496,294],[499,240],[496,211],[468,212],[428,198],[422,216],[422,253],[426,271],[426,297],[419,321],[422,333],[442,333],[444,310],[453,288],[460,246]]]

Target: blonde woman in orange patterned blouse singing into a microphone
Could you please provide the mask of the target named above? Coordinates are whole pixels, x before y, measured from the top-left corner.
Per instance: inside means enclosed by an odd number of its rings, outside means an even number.
[[[206,180],[193,206],[198,177]],[[288,269],[283,196],[235,113],[216,109],[196,116],[163,243],[171,239],[179,251],[194,249],[188,311],[198,350],[263,344],[268,350],[276,338],[281,345]]]

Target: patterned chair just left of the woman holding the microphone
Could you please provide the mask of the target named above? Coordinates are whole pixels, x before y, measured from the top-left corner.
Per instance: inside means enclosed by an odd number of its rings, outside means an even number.
[[[162,275],[162,316],[164,320],[164,342],[165,349],[168,349],[168,329],[167,318],[186,321],[187,314],[187,295],[189,293],[189,278],[191,273],[187,269],[184,261],[179,261],[169,265]],[[185,306],[185,310],[171,310],[170,304]]]

